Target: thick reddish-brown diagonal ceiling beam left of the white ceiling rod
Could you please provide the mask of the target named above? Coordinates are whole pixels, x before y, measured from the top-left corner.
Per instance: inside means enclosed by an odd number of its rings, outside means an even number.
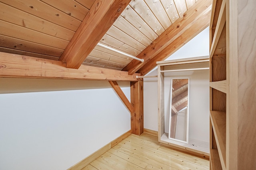
[[[79,68],[131,0],[96,0],[60,57],[67,68]]]

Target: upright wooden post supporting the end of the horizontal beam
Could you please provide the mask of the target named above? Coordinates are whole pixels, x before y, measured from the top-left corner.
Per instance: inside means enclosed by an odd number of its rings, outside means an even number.
[[[134,108],[131,113],[132,134],[141,135],[144,129],[143,81],[131,82],[131,104]]]

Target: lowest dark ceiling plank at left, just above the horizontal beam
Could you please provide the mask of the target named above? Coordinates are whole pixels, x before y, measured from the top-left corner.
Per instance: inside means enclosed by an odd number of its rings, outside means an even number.
[[[0,51],[4,53],[10,53],[10,54],[18,54],[18,55],[25,55],[29,57],[37,57],[41,59],[49,59],[49,60],[59,60],[60,57],[54,57],[50,55],[43,55],[43,54],[38,54],[38,53],[32,53],[28,51],[21,51],[21,50],[16,50],[16,49],[8,49],[5,47],[0,47]]]

